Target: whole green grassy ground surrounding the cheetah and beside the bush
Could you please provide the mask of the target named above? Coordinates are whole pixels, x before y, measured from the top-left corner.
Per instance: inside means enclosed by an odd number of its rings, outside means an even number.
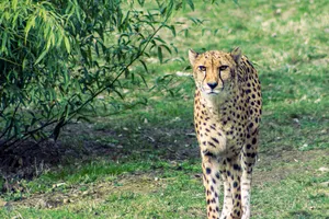
[[[71,127],[73,137],[61,136],[68,147],[92,142],[110,153],[19,181],[18,188],[1,194],[0,218],[205,218],[197,145],[191,136],[194,83],[175,72],[188,72],[190,47],[235,46],[256,64],[262,82],[252,218],[328,218],[328,11],[326,1],[257,0],[195,2],[194,12],[179,12],[178,19],[205,22],[190,26],[188,37],[172,38],[179,54],[164,65],[149,61],[151,74],[134,67],[155,88],[139,87],[125,99],[148,104]],[[174,82],[167,83],[170,79]]]

